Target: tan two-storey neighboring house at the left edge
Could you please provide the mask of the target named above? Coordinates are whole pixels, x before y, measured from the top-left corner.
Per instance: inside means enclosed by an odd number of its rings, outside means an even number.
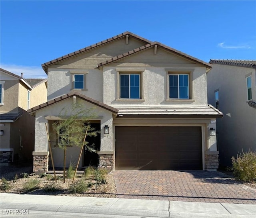
[[[46,101],[46,79],[24,79],[0,69],[1,165],[32,160],[35,118],[27,110]]]

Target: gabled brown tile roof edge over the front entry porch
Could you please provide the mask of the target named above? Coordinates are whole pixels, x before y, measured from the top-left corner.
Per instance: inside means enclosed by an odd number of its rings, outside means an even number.
[[[68,98],[71,98],[71,97],[73,97],[73,96],[77,96],[77,97],[79,97],[79,98],[81,98],[81,99],[83,99],[83,100],[85,100],[85,101],[87,101],[87,102],[90,102],[90,103],[92,103],[92,104],[95,104],[96,106],[99,106],[99,107],[101,107],[101,108],[104,108],[104,109],[106,109],[106,110],[109,110],[110,112],[112,112],[112,113],[114,113],[114,114],[117,114],[117,112],[118,112],[118,110],[117,110],[116,108],[110,107],[110,106],[108,106],[107,104],[104,104],[104,103],[102,103],[102,102],[100,102],[100,101],[94,100],[93,98],[89,98],[89,97],[87,97],[86,95],[83,95],[83,94],[81,94],[81,93],[79,93],[79,92],[74,92],[74,91],[72,91],[72,92],[69,92],[68,94],[64,94],[64,95],[62,95],[62,96],[60,96],[60,97],[58,97],[58,98],[54,98],[54,99],[52,99],[52,100],[50,100],[50,101],[48,101],[48,102],[46,102],[46,103],[43,103],[43,104],[40,104],[40,105],[35,106],[35,107],[33,107],[33,108],[30,108],[30,109],[28,109],[28,113],[30,113],[30,114],[31,114],[31,113],[34,113],[34,112],[36,112],[37,110],[40,110],[40,109],[42,109],[42,108],[46,108],[46,107],[48,107],[48,106],[50,106],[50,105],[52,105],[52,104],[55,104],[55,103],[57,103],[57,102],[60,102],[60,101],[62,101],[62,100],[68,99]]]

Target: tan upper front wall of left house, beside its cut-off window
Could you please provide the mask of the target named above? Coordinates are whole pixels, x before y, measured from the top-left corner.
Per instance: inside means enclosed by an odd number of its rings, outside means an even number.
[[[4,80],[4,78],[1,77],[1,81],[5,81],[4,82],[4,105],[0,105],[1,113],[6,113],[10,111],[18,112],[18,89],[19,89],[18,79]]]

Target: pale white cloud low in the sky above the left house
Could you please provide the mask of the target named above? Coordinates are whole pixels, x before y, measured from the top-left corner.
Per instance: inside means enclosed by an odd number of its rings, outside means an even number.
[[[1,68],[18,76],[21,76],[21,73],[23,73],[24,79],[47,78],[42,67],[1,64]]]

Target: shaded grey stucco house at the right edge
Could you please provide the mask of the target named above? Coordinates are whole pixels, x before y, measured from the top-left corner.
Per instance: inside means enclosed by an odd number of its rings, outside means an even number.
[[[220,165],[231,166],[238,152],[256,150],[256,60],[210,60],[208,103],[224,114],[217,119]]]

